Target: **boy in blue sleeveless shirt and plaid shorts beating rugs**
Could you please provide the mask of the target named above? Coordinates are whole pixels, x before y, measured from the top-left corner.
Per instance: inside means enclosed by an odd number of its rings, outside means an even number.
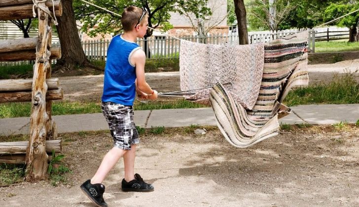
[[[147,13],[136,6],[127,7],[121,18],[124,33],[112,38],[108,46],[105,67],[102,111],[108,122],[114,147],[105,155],[99,169],[91,180],[85,181],[81,190],[99,207],[107,207],[103,199],[105,186],[102,181],[117,161],[123,156],[125,177],[123,191],[150,192],[153,186],[134,173],[136,145],[139,143],[133,122],[133,102],[136,92],[142,99],[157,99],[144,78],[144,51],[135,43],[147,31]]]

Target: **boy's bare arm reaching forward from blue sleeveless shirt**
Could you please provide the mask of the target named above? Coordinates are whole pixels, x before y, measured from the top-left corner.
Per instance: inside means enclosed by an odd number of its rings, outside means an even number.
[[[143,50],[136,50],[132,56],[130,61],[133,65],[136,66],[136,79],[137,79],[137,87],[140,91],[150,95],[149,99],[154,100],[157,98],[157,91],[153,91],[151,87],[146,82],[144,77],[144,64],[146,61],[146,55]]]

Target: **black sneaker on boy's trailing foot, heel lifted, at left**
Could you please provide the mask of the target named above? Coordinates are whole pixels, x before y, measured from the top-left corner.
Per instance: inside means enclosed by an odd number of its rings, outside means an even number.
[[[105,192],[105,185],[96,183],[91,184],[90,180],[82,183],[80,186],[85,195],[99,207],[107,207],[107,203],[104,201],[103,195]]]

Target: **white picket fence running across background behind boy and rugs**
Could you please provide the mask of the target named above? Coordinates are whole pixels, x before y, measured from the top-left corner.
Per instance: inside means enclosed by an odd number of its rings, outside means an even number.
[[[332,39],[345,39],[349,38],[348,28],[335,28],[332,30],[329,28],[318,29],[316,32],[310,32],[308,38],[309,52],[315,52],[315,41],[332,40]],[[268,42],[273,39],[285,37],[298,33],[298,30],[287,31],[262,31],[262,32],[250,32],[248,34],[249,43]],[[179,36],[180,39],[185,39],[193,42],[200,42],[206,44],[219,44],[219,45],[237,45],[238,34],[215,34],[208,36],[197,35],[185,35]],[[106,61],[107,49],[109,40],[90,40],[81,42],[84,53],[90,61]],[[146,57],[150,59],[172,59],[179,57],[180,44],[179,40],[171,36],[151,36],[147,39],[137,39],[139,44],[145,51]],[[59,45],[59,43],[53,43],[53,45]],[[56,63],[53,60],[52,63]],[[0,62],[0,66],[3,65],[28,65],[29,61],[19,62]]]

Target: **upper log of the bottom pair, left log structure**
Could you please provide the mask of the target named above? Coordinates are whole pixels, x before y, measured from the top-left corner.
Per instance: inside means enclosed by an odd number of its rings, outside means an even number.
[[[45,143],[47,153],[52,153],[52,150],[55,150],[55,153],[61,152],[61,139],[46,140]],[[0,155],[25,154],[28,146],[29,141],[0,142]]]

